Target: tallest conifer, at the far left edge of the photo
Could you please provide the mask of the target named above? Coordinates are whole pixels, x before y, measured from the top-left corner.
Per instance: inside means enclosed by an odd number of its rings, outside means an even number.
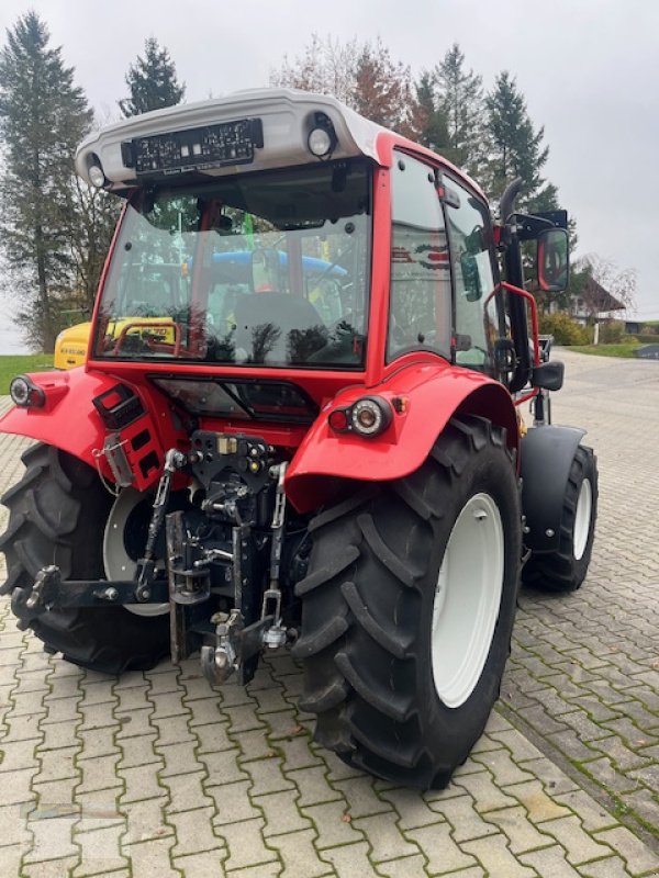
[[[0,246],[21,294],[19,322],[44,351],[53,350],[59,302],[71,289],[72,156],[92,115],[48,42],[44,22],[27,12],[0,52]]]

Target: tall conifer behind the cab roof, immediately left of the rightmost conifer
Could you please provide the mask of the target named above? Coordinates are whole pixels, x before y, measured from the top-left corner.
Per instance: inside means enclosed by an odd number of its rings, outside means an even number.
[[[455,43],[435,68],[438,109],[448,128],[444,156],[479,177],[484,159],[484,123],[482,79],[473,70],[465,70],[465,55]]]

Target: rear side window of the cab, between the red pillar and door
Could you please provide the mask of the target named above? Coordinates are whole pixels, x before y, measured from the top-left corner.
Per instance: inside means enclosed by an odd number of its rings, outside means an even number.
[[[450,357],[450,270],[433,169],[398,154],[391,171],[391,295],[387,361],[413,350]]]

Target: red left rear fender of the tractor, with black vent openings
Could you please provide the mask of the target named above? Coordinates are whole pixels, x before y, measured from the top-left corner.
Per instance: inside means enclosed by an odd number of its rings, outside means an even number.
[[[44,392],[44,405],[14,406],[0,418],[0,432],[59,448],[94,469],[100,466],[107,477],[111,472],[99,451],[107,437],[116,434],[133,471],[134,487],[145,491],[156,481],[164,452],[154,419],[136,387],[131,386],[142,403],[136,417],[115,428],[103,423],[92,399],[116,387],[116,379],[87,372],[83,367],[67,372],[35,372],[30,379]]]

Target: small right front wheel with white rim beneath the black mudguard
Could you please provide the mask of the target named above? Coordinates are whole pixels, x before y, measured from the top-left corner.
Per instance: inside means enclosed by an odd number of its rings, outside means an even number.
[[[592,448],[578,446],[570,466],[551,552],[532,552],[522,570],[525,585],[549,592],[576,592],[588,573],[597,520],[597,462]]]

